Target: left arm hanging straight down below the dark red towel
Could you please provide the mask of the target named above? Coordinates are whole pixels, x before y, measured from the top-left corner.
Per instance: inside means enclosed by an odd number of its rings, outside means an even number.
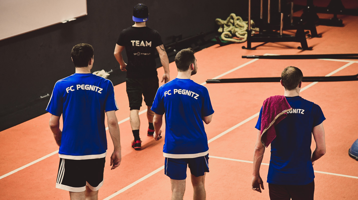
[[[253,173],[252,173],[252,189],[261,192],[263,189],[263,181],[260,177],[260,166],[265,153],[265,147],[261,143],[261,131],[257,130],[257,139],[255,144],[255,150],[253,152]]]

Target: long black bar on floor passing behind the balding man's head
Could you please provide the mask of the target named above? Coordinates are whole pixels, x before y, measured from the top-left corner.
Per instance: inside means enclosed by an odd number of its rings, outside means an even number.
[[[281,77],[257,77],[257,78],[222,78],[208,79],[207,83],[250,83],[250,82],[280,82]],[[358,74],[349,76],[304,76],[302,82],[337,82],[358,81]]]

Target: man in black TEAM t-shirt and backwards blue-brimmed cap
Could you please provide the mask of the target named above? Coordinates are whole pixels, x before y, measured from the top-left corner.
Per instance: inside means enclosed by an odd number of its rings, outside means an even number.
[[[139,137],[139,109],[142,106],[142,95],[147,105],[147,118],[149,122],[148,136],[153,137],[154,126],[151,106],[156,91],[159,87],[158,73],[155,63],[155,49],[159,53],[161,64],[164,68],[164,75],[161,82],[169,81],[169,59],[166,55],[163,42],[158,31],[146,27],[148,20],[148,8],[144,4],[137,4],[133,10],[133,21],[129,28],[122,30],[119,35],[114,56],[120,64],[121,70],[127,72],[126,90],[130,107],[130,123],[134,136],[132,147],[135,150],[141,149]],[[122,57],[122,51],[126,48],[128,64]]]

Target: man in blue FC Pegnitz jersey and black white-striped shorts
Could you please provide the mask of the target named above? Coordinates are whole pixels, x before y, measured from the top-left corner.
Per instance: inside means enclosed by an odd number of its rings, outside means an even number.
[[[77,44],[71,57],[76,72],[56,82],[46,108],[52,114],[50,128],[60,147],[56,188],[69,191],[71,200],[97,200],[107,154],[105,113],[114,146],[111,170],[121,162],[118,106],[112,82],[91,73],[92,46]]]

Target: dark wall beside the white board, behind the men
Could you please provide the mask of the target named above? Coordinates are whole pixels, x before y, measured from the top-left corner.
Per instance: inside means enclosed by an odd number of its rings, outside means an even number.
[[[131,26],[133,0],[87,0],[87,16],[0,41],[0,105],[3,110],[51,94],[55,82],[74,73],[71,49],[78,43],[95,48],[92,71],[119,68],[113,51],[119,32]],[[247,1],[143,0],[147,26],[159,31],[164,44],[171,35],[183,38],[216,29],[216,18],[246,15]],[[16,24],[14,24],[16,25]],[[4,90],[6,88],[6,90]]]

